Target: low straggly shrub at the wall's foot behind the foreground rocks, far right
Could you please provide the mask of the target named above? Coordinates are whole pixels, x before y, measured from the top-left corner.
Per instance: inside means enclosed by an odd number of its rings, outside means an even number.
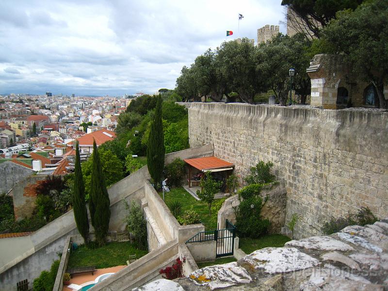
[[[329,235],[339,232],[346,226],[365,226],[367,224],[373,224],[376,221],[377,218],[368,207],[361,207],[356,214],[349,212],[346,216],[340,216],[338,218],[332,216],[329,222],[323,224],[321,230],[325,235]]]

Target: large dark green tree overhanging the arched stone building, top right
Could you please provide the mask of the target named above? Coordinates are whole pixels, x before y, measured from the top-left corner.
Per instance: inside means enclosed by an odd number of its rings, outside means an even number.
[[[325,29],[321,52],[344,56],[354,76],[376,89],[376,107],[388,108],[384,81],[388,77],[388,0],[372,0],[354,12],[341,11]]]

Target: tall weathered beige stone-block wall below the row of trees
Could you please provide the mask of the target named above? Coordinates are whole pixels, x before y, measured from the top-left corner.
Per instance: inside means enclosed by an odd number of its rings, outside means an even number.
[[[321,234],[331,216],[369,207],[388,216],[388,113],[240,103],[181,103],[189,108],[191,147],[214,155],[244,177],[260,160],[274,163],[287,190],[286,223],[302,219],[296,238]]]

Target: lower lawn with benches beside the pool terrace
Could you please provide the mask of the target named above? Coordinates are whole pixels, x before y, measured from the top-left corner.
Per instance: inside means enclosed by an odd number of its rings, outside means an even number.
[[[108,242],[97,249],[80,245],[70,254],[68,268],[96,266],[97,269],[126,265],[128,256],[136,254],[139,259],[148,252],[135,248],[130,242]]]

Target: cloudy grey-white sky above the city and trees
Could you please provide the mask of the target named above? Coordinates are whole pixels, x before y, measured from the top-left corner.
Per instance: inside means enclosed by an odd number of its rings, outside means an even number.
[[[0,94],[174,89],[183,65],[283,21],[281,0],[1,0]],[[238,13],[244,18],[238,21]],[[226,38],[226,30],[233,31]],[[285,32],[280,25],[280,31]]]

